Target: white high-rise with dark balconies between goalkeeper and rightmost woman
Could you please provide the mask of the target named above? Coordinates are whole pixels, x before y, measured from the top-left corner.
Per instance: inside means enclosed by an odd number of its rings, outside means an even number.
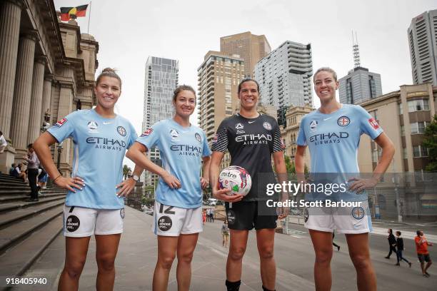
[[[258,61],[253,78],[260,86],[262,104],[276,108],[313,106],[311,44],[286,41]]]

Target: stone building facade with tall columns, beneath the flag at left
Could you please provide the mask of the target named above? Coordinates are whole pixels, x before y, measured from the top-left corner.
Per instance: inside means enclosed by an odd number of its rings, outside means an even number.
[[[91,108],[99,43],[81,34],[76,21],[61,22],[52,0],[5,0],[0,4],[0,131],[8,146],[0,171],[19,163],[26,146],[72,111]],[[53,148],[54,155],[58,152]],[[72,144],[61,152],[69,174]],[[55,156],[55,160],[57,156]]]

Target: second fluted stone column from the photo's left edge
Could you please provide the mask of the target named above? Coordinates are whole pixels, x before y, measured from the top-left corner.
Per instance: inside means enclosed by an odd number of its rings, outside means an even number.
[[[31,103],[32,76],[34,73],[34,55],[36,34],[33,32],[20,37],[14,103],[11,115],[11,140],[16,148],[16,158],[21,160],[26,153],[29,110]]]

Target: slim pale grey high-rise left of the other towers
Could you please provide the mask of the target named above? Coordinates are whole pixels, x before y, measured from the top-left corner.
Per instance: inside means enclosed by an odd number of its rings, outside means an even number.
[[[172,97],[178,86],[178,78],[179,61],[156,56],[147,58],[146,78],[144,80],[143,131],[153,126],[154,123],[174,115]],[[158,149],[151,148],[148,155],[154,163],[161,163]],[[158,176],[147,171],[143,178],[145,185],[155,185]]]

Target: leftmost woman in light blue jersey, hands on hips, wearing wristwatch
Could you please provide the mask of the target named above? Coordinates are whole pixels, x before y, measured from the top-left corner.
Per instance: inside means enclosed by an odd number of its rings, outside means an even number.
[[[121,79],[105,68],[94,88],[97,106],[74,111],[61,118],[34,143],[34,149],[56,185],[68,189],[64,205],[66,259],[59,278],[59,290],[78,290],[91,235],[96,237],[99,272],[97,290],[113,290],[114,261],[123,232],[124,199],[141,174],[123,181],[122,162],[126,149],[137,138],[134,126],[114,113],[121,94]],[[71,138],[74,161],[71,177],[64,177],[54,165],[50,146]],[[69,143],[64,142],[64,148]],[[117,188],[119,189],[117,191]]]

